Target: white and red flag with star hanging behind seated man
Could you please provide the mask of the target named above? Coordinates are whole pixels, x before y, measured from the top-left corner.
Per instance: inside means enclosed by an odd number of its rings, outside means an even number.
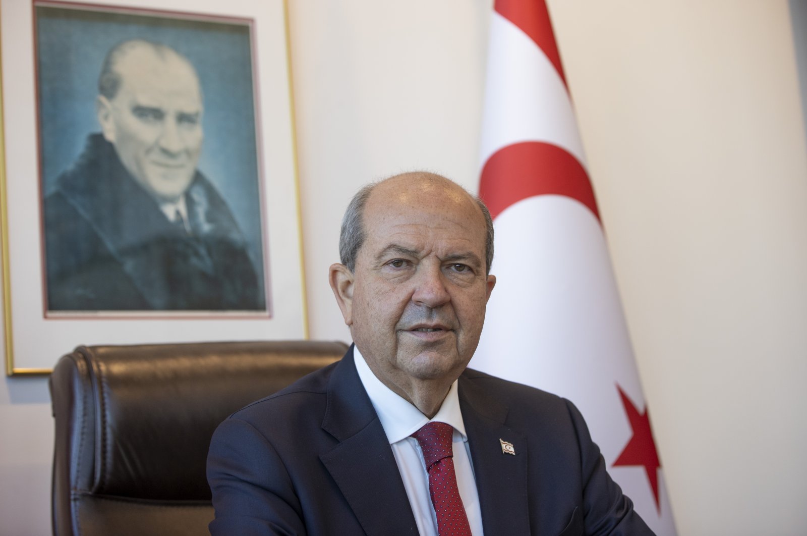
[[[489,46],[479,195],[498,281],[470,366],[572,400],[638,513],[675,534],[544,0],[496,0]]]

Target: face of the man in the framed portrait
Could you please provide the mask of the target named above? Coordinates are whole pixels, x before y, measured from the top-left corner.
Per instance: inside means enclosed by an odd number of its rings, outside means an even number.
[[[149,48],[129,52],[116,67],[122,83],[111,101],[98,97],[104,137],[149,194],[175,201],[194,176],[202,148],[202,94],[193,68]]]

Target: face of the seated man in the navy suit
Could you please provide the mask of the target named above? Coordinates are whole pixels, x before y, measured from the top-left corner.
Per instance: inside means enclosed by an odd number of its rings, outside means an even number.
[[[353,341],[399,394],[419,380],[454,381],[476,350],[495,284],[479,207],[450,183],[393,178],[376,186],[363,223],[342,308]]]

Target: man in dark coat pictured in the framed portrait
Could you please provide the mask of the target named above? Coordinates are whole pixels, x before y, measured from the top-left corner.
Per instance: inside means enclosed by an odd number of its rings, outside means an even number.
[[[98,91],[102,133],[45,199],[48,309],[265,309],[236,220],[196,170],[203,103],[190,61],[125,41]]]

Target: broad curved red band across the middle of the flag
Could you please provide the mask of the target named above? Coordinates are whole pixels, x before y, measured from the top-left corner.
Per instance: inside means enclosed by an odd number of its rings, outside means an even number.
[[[557,145],[540,141],[508,145],[488,158],[479,179],[479,197],[493,218],[521,199],[553,194],[576,199],[600,219],[585,168]]]

